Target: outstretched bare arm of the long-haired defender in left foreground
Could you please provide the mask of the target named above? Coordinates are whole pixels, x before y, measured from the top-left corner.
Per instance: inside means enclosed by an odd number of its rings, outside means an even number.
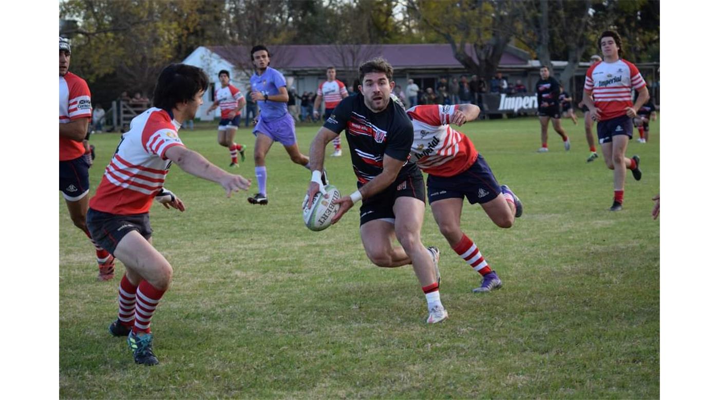
[[[240,189],[247,190],[252,183],[251,180],[245,179],[242,175],[232,175],[225,172],[215,164],[207,161],[198,152],[193,152],[184,146],[170,147],[165,151],[165,157],[178,164],[183,171],[190,175],[219,183],[227,192],[227,197],[232,195],[232,192],[239,192]]]

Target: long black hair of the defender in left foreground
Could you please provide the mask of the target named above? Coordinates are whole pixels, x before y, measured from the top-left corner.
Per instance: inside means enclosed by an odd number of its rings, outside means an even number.
[[[152,106],[171,111],[177,103],[191,101],[200,90],[207,90],[209,78],[200,68],[170,64],[157,77]]]

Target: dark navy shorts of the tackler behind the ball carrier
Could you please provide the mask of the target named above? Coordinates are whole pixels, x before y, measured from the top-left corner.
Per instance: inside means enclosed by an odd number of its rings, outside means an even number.
[[[471,167],[454,177],[427,176],[429,204],[437,200],[464,197],[470,204],[482,204],[494,200],[501,192],[492,169],[481,154]]]

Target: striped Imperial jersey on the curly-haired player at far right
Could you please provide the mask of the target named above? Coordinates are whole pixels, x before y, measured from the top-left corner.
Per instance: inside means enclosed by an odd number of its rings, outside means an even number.
[[[646,83],[639,70],[626,60],[597,62],[587,70],[585,90],[592,92],[594,104],[600,111],[600,121],[626,115],[626,108],[634,104],[631,90],[644,88]]]

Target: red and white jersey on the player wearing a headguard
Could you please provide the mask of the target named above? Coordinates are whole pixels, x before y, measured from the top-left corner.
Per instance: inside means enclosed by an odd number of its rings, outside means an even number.
[[[60,76],[60,124],[68,124],[78,118],[92,118],[90,88],[83,78],[73,73]],[[80,141],[60,136],[60,161],[76,159],[85,154]]]

